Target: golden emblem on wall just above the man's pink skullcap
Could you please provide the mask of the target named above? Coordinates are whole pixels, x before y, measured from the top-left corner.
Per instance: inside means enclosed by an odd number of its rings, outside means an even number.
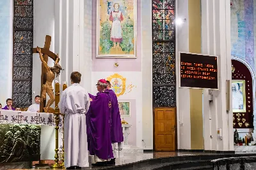
[[[111,89],[116,93],[116,97],[124,95],[126,88],[126,78],[118,73],[114,73],[107,77],[107,80],[111,83]]]

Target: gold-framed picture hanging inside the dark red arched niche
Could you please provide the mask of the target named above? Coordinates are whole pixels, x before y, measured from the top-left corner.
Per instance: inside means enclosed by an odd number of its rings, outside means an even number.
[[[246,112],[245,81],[232,81],[232,110]]]

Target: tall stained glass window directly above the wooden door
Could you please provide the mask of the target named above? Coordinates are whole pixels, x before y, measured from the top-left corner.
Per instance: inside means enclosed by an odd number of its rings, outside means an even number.
[[[152,0],[153,102],[176,106],[175,0]]]

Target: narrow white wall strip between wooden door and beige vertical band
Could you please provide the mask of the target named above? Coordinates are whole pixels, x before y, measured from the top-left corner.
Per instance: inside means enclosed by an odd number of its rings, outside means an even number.
[[[189,52],[189,17],[188,0],[177,0],[176,17],[186,19],[176,29],[176,72],[178,73],[178,52]],[[191,149],[191,123],[190,123],[190,97],[189,89],[179,88],[179,76],[177,76],[177,133],[178,149]],[[186,105],[186,107],[184,107]]]

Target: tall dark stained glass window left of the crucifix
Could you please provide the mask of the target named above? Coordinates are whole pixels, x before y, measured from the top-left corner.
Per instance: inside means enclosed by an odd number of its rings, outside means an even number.
[[[15,106],[32,104],[33,0],[13,0],[13,77]]]

